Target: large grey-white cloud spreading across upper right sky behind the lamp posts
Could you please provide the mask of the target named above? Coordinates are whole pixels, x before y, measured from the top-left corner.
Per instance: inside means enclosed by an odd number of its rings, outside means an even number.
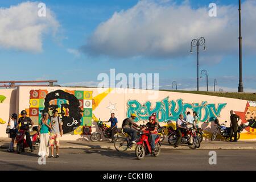
[[[242,4],[243,50],[255,53],[256,1]],[[217,17],[208,15],[208,7],[192,9],[188,1],[181,5],[139,1],[128,10],[115,12],[102,22],[82,47],[90,55],[113,57],[187,56],[191,40],[204,36],[204,59],[219,62],[221,55],[237,53],[238,7],[217,5]]]

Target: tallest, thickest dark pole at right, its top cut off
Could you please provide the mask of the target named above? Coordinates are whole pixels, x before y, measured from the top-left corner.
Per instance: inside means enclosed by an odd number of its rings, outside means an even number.
[[[239,0],[239,85],[238,92],[243,92],[242,80],[242,26],[241,26],[241,0]]]

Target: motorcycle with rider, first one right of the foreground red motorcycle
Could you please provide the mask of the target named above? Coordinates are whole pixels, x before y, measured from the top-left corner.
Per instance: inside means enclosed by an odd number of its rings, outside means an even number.
[[[168,127],[168,143],[171,145],[174,145],[174,143],[177,141],[176,131],[172,127]],[[191,149],[200,148],[200,139],[196,134],[196,130],[194,127],[188,128],[185,132],[182,131],[182,138],[181,138],[181,144],[188,144],[188,147]],[[189,140],[193,138],[193,144],[189,145]]]

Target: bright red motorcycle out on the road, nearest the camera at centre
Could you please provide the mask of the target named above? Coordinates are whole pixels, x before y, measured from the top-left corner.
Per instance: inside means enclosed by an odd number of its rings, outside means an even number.
[[[158,137],[156,137],[155,139],[155,151],[152,152],[150,143],[148,142],[148,137],[150,137],[150,131],[139,131],[139,134],[141,135],[141,138],[139,139],[139,142],[137,142],[137,146],[135,148],[135,154],[137,156],[137,159],[142,160],[148,154],[151,154],[152,156],[159,156],[161,151],[160,135],[157,134]]]

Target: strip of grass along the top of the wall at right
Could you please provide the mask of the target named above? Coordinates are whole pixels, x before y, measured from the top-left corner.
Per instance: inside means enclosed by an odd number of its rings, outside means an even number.
[[[201,92],[201,91],[185,91],[185,90],[161,90],[161,91],[194,93],[194,94],[202,94],[207,96],[228,97],[228,98],[237,98],[237,99],[247,100],[247,101],[256,101],[256,93]]]

